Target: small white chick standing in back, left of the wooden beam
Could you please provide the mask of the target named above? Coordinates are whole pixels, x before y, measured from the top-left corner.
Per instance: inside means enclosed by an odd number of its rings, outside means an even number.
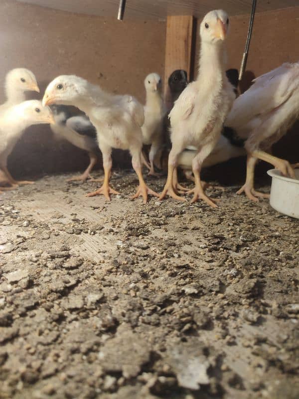
[[[144,106],[145,123],[142,125],[143,144],[150,145],[149,150],[149,175],[156,176],[154,172],[154,158],[161,150],[163,141],[163,118],[166,113],[162,98],[161,78],[157,73],[150,73],[145,78],[147,92],[146,105]],[[146,166],[148,166],[146,164]]]

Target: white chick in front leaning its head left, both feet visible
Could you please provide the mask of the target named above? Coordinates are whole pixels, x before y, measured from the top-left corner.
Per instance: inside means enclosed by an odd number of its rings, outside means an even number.
[[[129,150],[132,155],[132,166],[139,179],[139,188],[133,198],[143,196],[146,203],[148,194],[158,197],[147,187],[142,176],[141,126],[144,123],[144,110],[134,97],[115,96],[78,76],[62,75],[48,85],[43,97],[44,105],[54,103],[79,108],[97,130],[98,144],[103,155],[104,182],[100,189],[88,194],[88,197],[104,195],[110,200],[110,194],[118,194],[109,186],[113,148]]]

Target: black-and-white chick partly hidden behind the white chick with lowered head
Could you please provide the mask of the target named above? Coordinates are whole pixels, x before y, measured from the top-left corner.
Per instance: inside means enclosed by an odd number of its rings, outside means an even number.
[[[86,181],[91,179],[90,173],[97,163],[97,132],[84,115],[71,116],[69,107],[63,105],[51,105],[55,124],[50,125],[54,137],[58,140],[64,139],[75,147],[87,151],[89,156],[89,165],[80,176],[74,176],[68,179],[72,181]]]

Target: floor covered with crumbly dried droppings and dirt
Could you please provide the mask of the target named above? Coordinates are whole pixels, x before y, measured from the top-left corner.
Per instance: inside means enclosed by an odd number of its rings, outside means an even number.
[[[0,196],[0,398],[299,397],[298,220],[66,178]]]

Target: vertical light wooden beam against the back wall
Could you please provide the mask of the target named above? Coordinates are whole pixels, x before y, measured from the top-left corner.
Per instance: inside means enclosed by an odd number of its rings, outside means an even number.
[[[175,69],[187,71],[188,79],[192,72],[193,24],[191,15],[167,16],[164,69],[164,95],[168,102],[168,77]],[[192,76],[191,76],[192,77]]]

